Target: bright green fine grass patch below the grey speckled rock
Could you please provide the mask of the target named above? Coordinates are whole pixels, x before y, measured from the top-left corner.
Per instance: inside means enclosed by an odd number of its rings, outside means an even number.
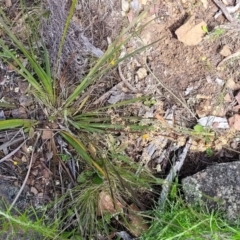
[[[167,201],[164,210],[156,208],[152,216],[151,227],[141,239],[240,239],[240,226],[230,225],[220,212],[189,206],[180,197]]]

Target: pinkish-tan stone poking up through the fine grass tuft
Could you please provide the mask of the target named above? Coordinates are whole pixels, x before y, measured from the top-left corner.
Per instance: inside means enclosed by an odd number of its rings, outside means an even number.
[[[102,216],[104,213],[113,214],[121,211],[123,209],[123,205],[118,200],[116,199],[114,200],[115,200],[115,206],[113,204],[112,197],[108,193],[104,191],[100,192],[98,197],[97,215]]]

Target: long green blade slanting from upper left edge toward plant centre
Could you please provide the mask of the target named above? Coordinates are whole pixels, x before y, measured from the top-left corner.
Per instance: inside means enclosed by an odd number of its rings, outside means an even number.
[[[4,32],[11,38],[11,40],[16,44],[18,49],[24,54],[28,59],[31,67],[34,69],[39,81],[43,84],[45,91],[49,96],[49,100],[54,103],[53,89],[52,89],[52,79],[47,75],[47,73],[42,69],[42,67],[36,62],[34,56],[32,56],[24,45],[17,39],[17,37],[12,33],[10,28],[4,23],[3,18],[0,17],[0,26]],[[28,80],[28,79],[27,79]]]

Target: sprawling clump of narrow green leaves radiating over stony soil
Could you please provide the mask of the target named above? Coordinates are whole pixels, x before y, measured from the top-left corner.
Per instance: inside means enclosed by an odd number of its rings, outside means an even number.
[[[76,0],[71,2],[69,14],[59,44],[58,58],[61,56],[76,3]],[[66,201],[68,201],[68,205],[71,205],[65,217],[63,217],[61,213],[58,213],[58,216],[59,219],[68,222],[67,227],[64,223],[62,224],[62,229],[64,230],[71,225],[69,224],[71,219],[75,222],[73,219],[77,218],[79,229],[77,227],[76,231],[82,236],[87,237],[88,234],[94,234],[94,229],[96,229],[96,201],[99,193],[103,189],[108,191],[113,198],[121,194],[125,195],[125,197],[130,197],[140,188],[150,188],[149,183],[156,183],[156,179],[148,172],[145,173],[143,171],[140,175],[136,175],[135,172],[138,167],[134,167],[129,161],[126,163],[126,159],[122,155],[114,155],[114,153],[111,153],[104,158],[101,153],[98,153],[96,156],[92,156],[87,147],[87,138],[84,137],[86,133],[104,136],[106,131],[121,131],[126,127],[128,127],[128,131],[143,131],[146,127],[140,126],[137,123],[128,124],[128,118],[124,119],[126,122],[125,125],[113,124],[110,116],[106,114],[106,111],[109,108],[123,107],[146,98],[127,100],[93,111],[85,110],[85,106],[89,103],[89,96],[84,97],[81,102],[76,101],[76,99],[81,97],[87,88],[91,84],[94,84],[100,76],[111,71],[124,59],[148,47],[144,46],[123,58],[118,58],[118,53],[122,45],[130,38],[123,38],[123,36],[137,23],[141,15],[119,35],[119,39],[108,47],[103,56],[96,60],[95,65],[89,70],[86,76],[83,77],[83,79],[79,79],[79,84],[74,91],[70,92],[66,98],[62,99],[61,93],[58,91],[59,81],[54,77],[56,75],[54,71],[56,71],[58,66],[55,66],[55,69],[51,69],[48,50],[44,42],[41,42],[40,48],[43,53],[42,62],[44,62],[45,65],[39,62],[39,59],[34,54],[34,48],[32,46],[26,47],[25,43],[14,35],[1,10],[0,13],[1,30],[11,39],[12,44],[16,48],[13,51],[12,46],[10,48],[4,39],[0,39],[0,58],[5,63],[11,64],[15,71],[28,81],[30,85],[29,92],[35,97],[35,102],[39,104],[41,108],[44,108],[44,117],[46,119],[44,122],[38,119],[7,119],[0,121],[0,130],[23,128],[25,132],[32,131],[33,129],[35,129],[35,131],[40,131],[37,128],[38,124],[45,124],[44,127],[48,127],[48,123],[54,122],[59,125],[59,129],[61,128],[61,130],[56,131],[57,134],[75,149],[76,155],[79,156],[79,160],[84,161],[88,172],[84,172],[83,170],[77,178],[77,186],[69,191],[67,196],[57,201],[57,205],[59,204],[59,206],[61,206],[63,202],[65,204]],[[120,39],[125,40],[120,41]],[[27,61],[27,65],[23,64],[19,55]],[[14,64],[12,64],[13,62]],[[140,119],[135,118],[136,122],[138,122],[138,120]],[[60,155],[61,153],[57,154]],[[118,160],[114,162],[112,161],[113,159]],[[61,211],[61,209],[59,211]],[[63,210],[63,212],[66,211]]]

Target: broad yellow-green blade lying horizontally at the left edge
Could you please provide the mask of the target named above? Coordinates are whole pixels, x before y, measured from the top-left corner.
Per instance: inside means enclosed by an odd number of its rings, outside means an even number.
[[[30,128],[37,124],[35,120],[29,119],[8,119],[0,121],[0,130],[7,130],[10,128]]]

